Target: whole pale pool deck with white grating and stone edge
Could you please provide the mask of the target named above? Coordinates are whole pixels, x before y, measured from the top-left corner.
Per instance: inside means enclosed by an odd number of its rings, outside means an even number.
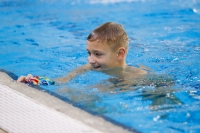
[[[130,133],[0,72],[0,133]]]

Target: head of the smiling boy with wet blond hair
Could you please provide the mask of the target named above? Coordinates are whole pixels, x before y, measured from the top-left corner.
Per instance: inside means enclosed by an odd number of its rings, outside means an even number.
[[[128,36],[117,23],[107,22],[87,38],[88,61],[95,70],[126,66]]]

